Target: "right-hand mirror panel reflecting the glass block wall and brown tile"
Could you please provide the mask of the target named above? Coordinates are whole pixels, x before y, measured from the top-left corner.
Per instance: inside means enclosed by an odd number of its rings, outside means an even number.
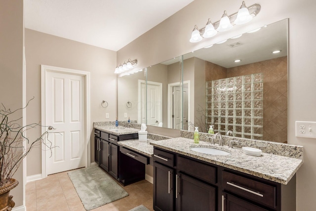
[[[184,101],[183,129],[213,125],[223,135],[286,143],[287,25],[285,19],[184,55],[184,93],[188,84],[194,100]]]

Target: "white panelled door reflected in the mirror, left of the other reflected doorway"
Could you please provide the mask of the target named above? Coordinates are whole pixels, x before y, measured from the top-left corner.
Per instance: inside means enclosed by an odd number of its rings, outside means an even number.
[[[162,127],[162,84],[147,82],[147,125]]]

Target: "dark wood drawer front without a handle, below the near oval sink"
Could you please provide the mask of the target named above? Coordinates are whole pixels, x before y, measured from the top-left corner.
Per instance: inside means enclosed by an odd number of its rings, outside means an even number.
[[[217,168],[181,156],[177,158],[177,169],[206,182],[217,182]]]

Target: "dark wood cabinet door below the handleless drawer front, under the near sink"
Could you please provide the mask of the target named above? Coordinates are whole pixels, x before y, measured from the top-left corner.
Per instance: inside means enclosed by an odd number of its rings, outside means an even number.
[[[179,172],[176,178],[177,211],[215,211],[215,187]]]

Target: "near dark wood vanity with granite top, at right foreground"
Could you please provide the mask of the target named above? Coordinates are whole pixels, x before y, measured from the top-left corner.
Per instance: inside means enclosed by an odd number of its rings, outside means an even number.
[[[154,148],[155,211],[295,211],[295,172],[303,161],[262,153],[207,155],[192,139],[173,138]],[[292,179],[291,179],[292,178]]]

